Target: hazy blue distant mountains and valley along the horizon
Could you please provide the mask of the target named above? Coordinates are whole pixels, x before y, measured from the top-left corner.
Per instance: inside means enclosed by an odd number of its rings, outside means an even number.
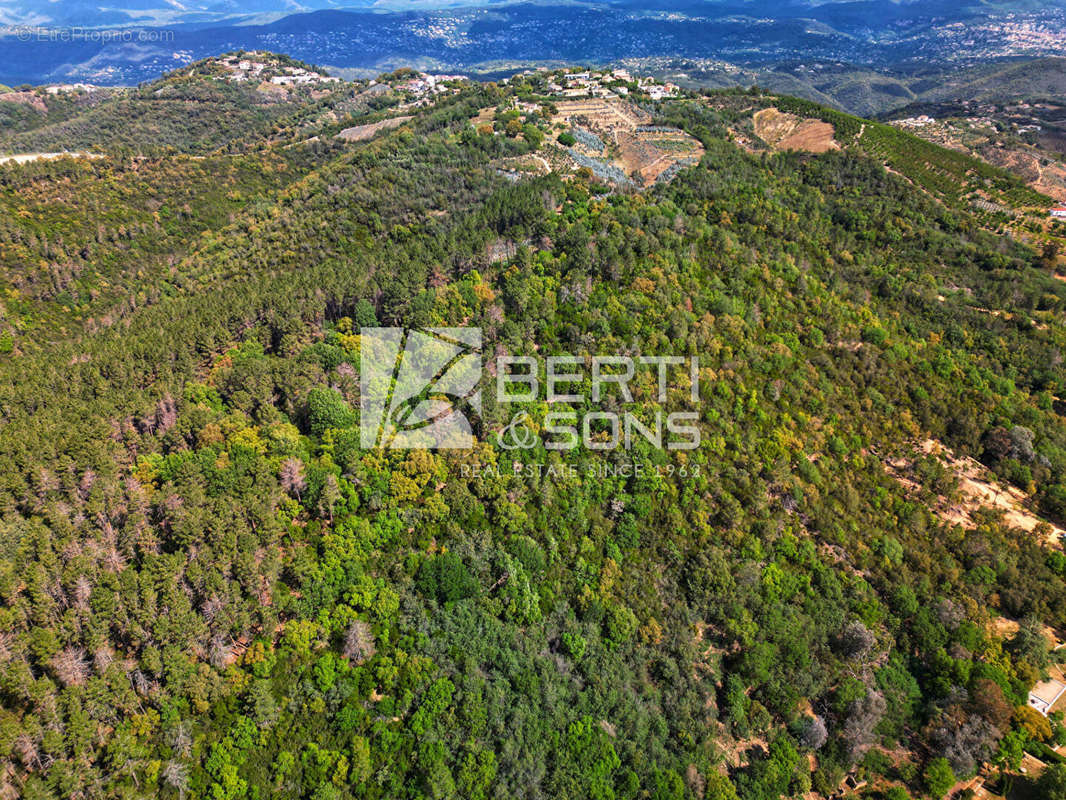
[[[878,70],[1066,52],[1066,0],[471,3],[447,0],[0,1],[0,82],[130,84],[230,50],[353,74],[502,74],[531,64],[695,60]],[[93,30],[70,30],[83,26]],[[655,64],[650,64],[655,66]],[[904,100],[909,98],[903,98]],[[870,109],[863,109],[870,110]]]

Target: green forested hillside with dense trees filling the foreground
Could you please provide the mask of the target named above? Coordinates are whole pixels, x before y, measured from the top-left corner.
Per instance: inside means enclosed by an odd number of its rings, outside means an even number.
[[[1027,705],[1066,556],[947,522],[916,454],[1066,523],[1053,254],[927,170],[736,144],[779,98],[646,103],[705,153],[636,191],[516,177],[555,153],[507,111],[535,78],[358,142],[371,108],[171,80],[185,155],[132,147],[145,107],[103,159],[0,165],[0,797],[1053,797],[1019,767],[1066,740]],[[364,448],[374,325],[698,356],[702,444],[506,449],[486,401],[473,449]]]

